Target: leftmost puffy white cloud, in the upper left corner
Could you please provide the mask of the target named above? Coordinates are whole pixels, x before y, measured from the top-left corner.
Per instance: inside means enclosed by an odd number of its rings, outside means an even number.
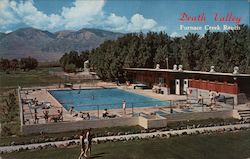
[[[39,11],[34,2],[3,0],[0,2],[0,29],[6,30],[12,25],[25,24],[39,29],[53,29],[60,26],[61,17],[56,14],[46,15]]]

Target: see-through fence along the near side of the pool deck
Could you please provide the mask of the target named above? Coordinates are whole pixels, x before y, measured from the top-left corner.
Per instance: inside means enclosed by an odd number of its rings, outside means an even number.
[[[141,112],[147,113],[185,113],[185,112],[206,112],[211,108],[203,99],[187,100],[165,100],[165,101],[146,101],[146,102],[126,102],[126,107],[123,109],[122,101],[113,104],[93,104],[93,105],[77,105],[73,103],[63,103],[63,107],[32,107],[24,104],[26,110],[23,114],[25,125],[43,124],[48,122],[58,121],[79,121],[79,120],[98,120],[106,118],[124,117],[124,116],[139,116]],[[228,99],[230,100],[230,99]],[[74,108],[73,108],[74,107]],[[73,108],[73,109],[72,109]],[[232,106],[232,109],[234,105]],[[162,110],[162,111],[159,111]],[[46,117],[45,113],[48,111]],[[61,113],[61,114],[60,114]],[[59,114],[61,115],[59,118]]]

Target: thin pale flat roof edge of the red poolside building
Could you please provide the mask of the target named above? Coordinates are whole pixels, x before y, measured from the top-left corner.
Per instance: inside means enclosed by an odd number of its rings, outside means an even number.
[[[153,69],[153,68],[125,68],[125,70],[131,71],[154,71],[154,72],[171,72],[171,73],[187,73],[187,74],[204,74],[204,75],[218,75],[218,76],[232,76],[232,77],[250,77],[250,74],[233,74],[222,72],[204,72],[204,71],[176,71],[172,69]]]

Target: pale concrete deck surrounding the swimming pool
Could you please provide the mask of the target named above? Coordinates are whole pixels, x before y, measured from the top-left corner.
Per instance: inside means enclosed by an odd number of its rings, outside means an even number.
[[[113,83],[106,83],[106,82],[99,82],[95,84],[94,86],[86,85],[84,83],[74,85],[73,89],[84,89],[84,88],[100,88],[100,87],[117,87]],[[123,89],[129,92],[137,93],[140,95],[156,98],[159,100],[164,100],[164,101],[184,101],[184,100],[191,100],[194,103],[197,102],[197,99],[190,98],[187,96],[180,96],[180,95],[163,95],[163,94],[156,94],[152,92],[152,90],[141,90],[141,89],[132,89],[132,87],[128,86],[118,86],[117,88]],[[80,121],[80,120],[85,120],[80,117],[73,117],[67,111],[64,109],[64,107],[48,92],[49,90],[71,90],[71,88],[59,88],[58,86],[50,86],[50,87],[41,87],[41,88],[24,88],[21,91],[21,99],[35,99],[39,102],[49,102],[51,104],[51,108],[47,109],[49,111],[50,116],[55,116],[57,114],[57,110],[62,110],[63,111],[63,121]],[[44,119],[44,114],[43,111],[44,109],[36,107],[37,109],[37,116],[39,118],[38,123],[36,124],[44,124],[45,119]],[[188,112],[202,112],[202,111],[211,111],[210,108],[202,108],[192,106],[192,104],[181,104],[181,103],[175,103],[173,104],[172,108],[174,109],[174,113],[188,113]],[[213,111],[216,110],[227,110],[230,109],[229,106],[227,105],[218,105],[217,107],[214,108]],[[35,109],[29,106],[28,104],[23,104],[23,114],[24,114],[24,121],[26,125],[29,124],[34,124],[34,116],[35,116]],[[101,119],[102,117],[102,112],[103,110],[91,110],[87,111],[90,113],[90,119]],[[170,107],[169,106],[161,106],[161,107],[142,107],[142,108],[127,108],[126,109],[126,114],[124,114],[122,110],[122,104],[121,104],[121,109],[112,109],[108,110],[109,114],[114,114],[117,117],[132,117],[133,115],[138,115],[139,113],[145,113],[145,114],[152,114],[155,112],[161,112],[161,113],[166,113],[170,114]],[[98,116],[99,114],[99,116]]]

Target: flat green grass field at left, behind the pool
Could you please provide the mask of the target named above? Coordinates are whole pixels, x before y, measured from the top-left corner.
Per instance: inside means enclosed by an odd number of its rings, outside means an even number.
[[[37,68],[27,72],[11,71],[10,74],[0,72],[0,88],[17,88],[28,86],[45,86],[59,83],[63,79],[51,75],[49,72],[60,71],[60,68]]]

